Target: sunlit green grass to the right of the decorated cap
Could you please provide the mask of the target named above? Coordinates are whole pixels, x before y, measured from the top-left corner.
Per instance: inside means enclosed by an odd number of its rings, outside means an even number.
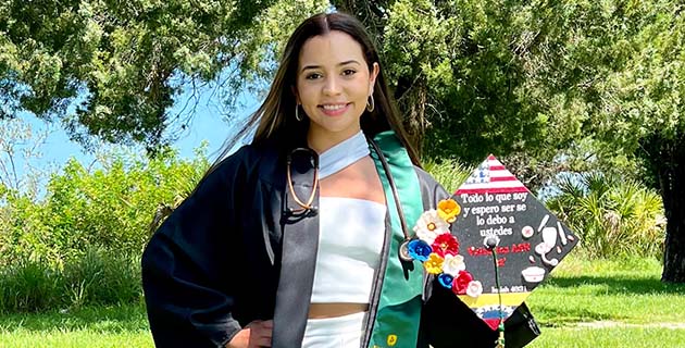
[[[651,259],[569,258],[528,298],[543,335],[530,347],[685,347],[685,285]]]

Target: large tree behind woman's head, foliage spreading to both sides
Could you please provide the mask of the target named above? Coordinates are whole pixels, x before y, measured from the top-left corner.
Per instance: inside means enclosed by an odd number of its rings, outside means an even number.
[[[377,39],[410,132],[420,144],[426,136],[428,156],[474,162],[488,149],[546,148],[537,144],[549,119],[524,98],[526,47],[512,50],[528,37],[519,34],[528,8],[493,0],[332,4],[358,15]],[[322,0],[5,2],[0,117],[28,110],[62,121],[84,144],[95,135],[154,148],[169,140],[169,124],[186,122],[169,112],[179,90],[222,79],[220,92],[235,101],[246,85],[259,89],[294,25],[327,7]]]

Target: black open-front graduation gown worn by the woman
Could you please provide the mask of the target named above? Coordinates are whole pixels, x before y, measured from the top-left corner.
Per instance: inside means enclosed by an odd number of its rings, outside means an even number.
[[[308,197],[311,163],[296,164],[295,190]],[[158,347],[222,347],[249,322],[271,319],[274,347],[301,341],[319,219],[284,213],[291,206],[285,167],[277,149],[245,146],[203,178],[154,233],[141,264]],[[427,173],[415,171],[425,210],[449,197]],[[289,286],[279,290],[279,278]],[[425,297],[420,347],[494,347],[497,334],[449,290],[428,286]],[[507,347],[522,347],[537,334],[523,307],[507,322]]]

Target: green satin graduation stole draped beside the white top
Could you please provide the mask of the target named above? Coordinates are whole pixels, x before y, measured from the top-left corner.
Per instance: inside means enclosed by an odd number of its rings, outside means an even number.
[[[423,213],[416,171],[407,150],[395,136],[395,133],[391,130],[379,133],[374,137],[374,141],[387,159],[408,228],[412,228],[414,222]],[[421,320],[423,265],[421,262],[412,261],[413,270],[407,273],[409,275],[408,278],[404,276],[404,270],[398,256],[399,246],[404,240],[404,234],[402,233],[395,197],[382,162],[373,148],[371,153],[385,191],[390,217],[391,238],[378,299],[378,309],[373,323],[369,347],[415,348]],[[408,231],[408,233],[412,234],[411,231]]]

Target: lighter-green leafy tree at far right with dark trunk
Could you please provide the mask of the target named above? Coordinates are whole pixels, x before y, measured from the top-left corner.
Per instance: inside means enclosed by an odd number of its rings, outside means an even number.
[[[672,0],[539,1],[536,74],[549,109],[578,126],[571,145],[602,167],[633,167],[668,219],[662,281],[685,283],[683,5]],[[562,123],[563,124],[563,123]],[[566,152],[569,153],[569,152]],[[626,163],[627,162],[627,163]],[[624,176],[634,174],[622,173]]]

